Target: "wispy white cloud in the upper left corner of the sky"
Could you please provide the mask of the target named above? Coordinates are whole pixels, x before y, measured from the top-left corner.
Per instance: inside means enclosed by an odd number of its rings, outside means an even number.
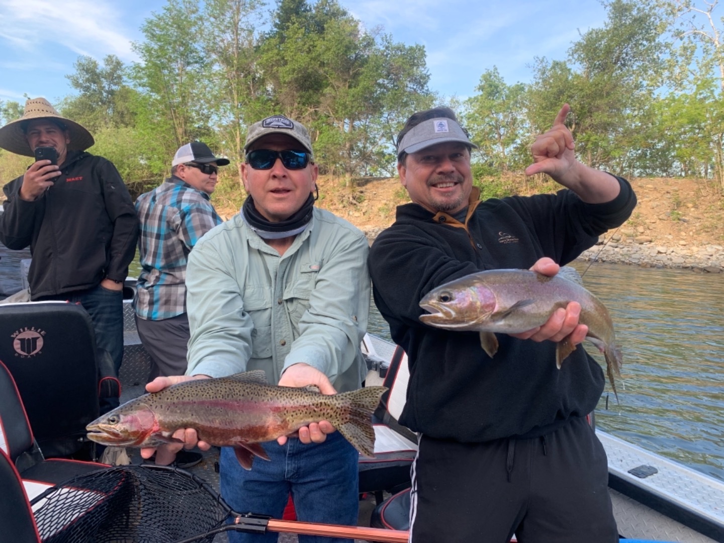
[[[14,48],[43,51],[60,45],[95,58],[135,59],[122,14],[111,1],[0,0],[0,12],[0,38]]]

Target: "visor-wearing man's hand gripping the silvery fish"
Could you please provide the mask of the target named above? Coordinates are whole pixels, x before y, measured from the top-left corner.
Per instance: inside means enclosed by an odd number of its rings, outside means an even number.
[[[539,274],[553,277],[560,270],[560,266],[556,264],[552,258],[544,256],[539,258],[531,267],[531,271],[537,271]],[[535,327],[520,334],[510,334],[517,337],[518,340],[533,340],[537,342],[550,340],[552,342],[563,341],[566,337],[570,337],[571,345],[578,345],[586,339],[588,327],[585,324],[578,324],[581,316],[581,304],[571,302],[564,308],[557,308],[544,324]]]

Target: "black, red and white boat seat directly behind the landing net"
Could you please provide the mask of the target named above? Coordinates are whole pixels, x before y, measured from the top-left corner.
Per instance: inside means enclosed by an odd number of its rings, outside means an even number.
[[[82,473],[108,468],[106,464],[62,458],[48,459],[35,442],[28,416],[12,375],[0,362],[0,450],[20,472],[23,481],[38,490]]]

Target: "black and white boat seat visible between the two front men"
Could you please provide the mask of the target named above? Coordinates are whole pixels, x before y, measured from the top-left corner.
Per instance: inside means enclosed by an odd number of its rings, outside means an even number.
[[[383,492],[395,493],[411,485],[411,466],[417,455],[417,437],[397,422],[405,405],[410,373],[407,355],[397,347],[384,377],[389,390],[382,395],[373,417],[376,458],[360,456],[359,490],[382,502]]]

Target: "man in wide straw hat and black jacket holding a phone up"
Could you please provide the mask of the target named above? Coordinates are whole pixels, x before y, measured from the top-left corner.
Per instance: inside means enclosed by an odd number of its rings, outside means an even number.
[[[45,98],[26,101],[22,117],[0,128],[0,147],[11,153],[35,156],[38,147],[57,153],[57,165],[35,161],[4,186],[0,241],[10,249],[30,245],[30,299],[80,303],[93,321],[98,348],[110,353],[118,371],[123,282],[135,254],[138,218],[116,167],[85,152],[93,143],[88,130],[59,115]]]

